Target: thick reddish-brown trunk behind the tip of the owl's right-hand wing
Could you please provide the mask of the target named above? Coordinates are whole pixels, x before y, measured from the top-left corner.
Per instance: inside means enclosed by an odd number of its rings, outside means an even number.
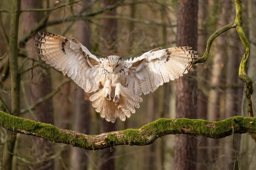
[[[191,46],[197,50],[198,0],[179,0],[177,17],[177,46]],[[195,71],[176,79],[176,118],[197,118],[198,83]],[[195,170],[197,139],[175,136],[175,170]]]

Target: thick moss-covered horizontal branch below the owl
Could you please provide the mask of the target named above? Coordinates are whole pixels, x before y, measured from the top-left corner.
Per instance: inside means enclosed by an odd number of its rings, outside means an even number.
[[[70,144],[87,150],[101,150],[124,144],[148,145],[157,138],[169,134],[223,138],[234,133],[256,133],[256,117],[234,116],[218,122],[185,118],[158,119],[140,129],[86,135],[0,111],[0,126],[15,133],[37,136],[52,142]]]

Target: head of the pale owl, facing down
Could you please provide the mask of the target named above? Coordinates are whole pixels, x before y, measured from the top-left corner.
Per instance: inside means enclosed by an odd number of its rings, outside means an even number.
[[[108,56],[104,61],[105,69],[109,73],[118,73],[125,67],[125,61],[119,56]]]

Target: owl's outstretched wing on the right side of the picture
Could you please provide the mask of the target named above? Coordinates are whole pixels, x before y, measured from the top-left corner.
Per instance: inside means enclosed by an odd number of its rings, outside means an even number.
[[[197,60],[197,51],[191,47],[155,48],[133,60],[126,60],[129,75],[126,87],[140,96],[155,91],[169,80],[177,79],[188,73],[190,62]]]

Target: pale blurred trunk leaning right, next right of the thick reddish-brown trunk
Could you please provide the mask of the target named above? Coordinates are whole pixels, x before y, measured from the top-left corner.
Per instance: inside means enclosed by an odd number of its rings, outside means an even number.
[[[223,4],[221,5],[221,17],[217,20],[217,29],[221,28],[224,25],[227,25],[228,17],[230,15],[228,14],[228,9],[230,6],[230,2],[228,0],[223,1]],[[211,71],[211,79],[210,79],[210,86],[212,88],[209,91],[209,97],[208,97],[208,120],[209,121],[218,121],[220,119],[220,90],[218,86],[221,82],[221,76],[223,75],[223,66],[224,66],[224,57],[227,56],[226,52],[226,44],[227,44],[227,37],[226,34],[221,34],[218,38],[216,38],[216,45],[214,48],[215,55],[213,57],[212,61],[212,71]],[[209,156],[212,164],[212,166],[218,166],[216,165],[218,161],[216,159],[218,158],[218,147],[216,145],[219,143],[218,139],[208,139],[208,146],[209,146]],[[215,164],[216,162],[216,164]]]

